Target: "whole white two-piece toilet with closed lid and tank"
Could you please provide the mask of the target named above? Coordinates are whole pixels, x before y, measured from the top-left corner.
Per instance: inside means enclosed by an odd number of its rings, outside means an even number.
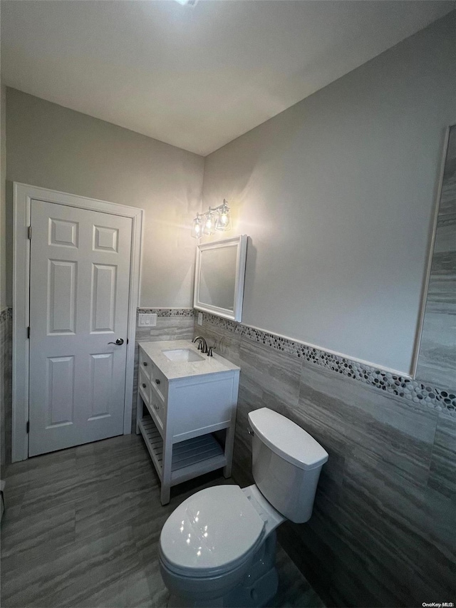
[[[249,413],[255,483],[217,485],[187,498],[160,535],[172,607],[259,607],[277,589],[276,527],[309,520],[328,453],[268,408]]]

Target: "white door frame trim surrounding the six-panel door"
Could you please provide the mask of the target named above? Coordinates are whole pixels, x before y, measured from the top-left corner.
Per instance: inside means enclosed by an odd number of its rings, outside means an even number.
[[[14,225],[13,225],[13,403],[11,461],[13,463],[28,458],[28,355],[30,302],[30,240],[28,227],[31,217],[31,200],[43,200],[90,211],[100,211],[112,215],[131,217],[132,247],[130,261],[130,294],[128,297],[128,344],[125,374],[125,408],[123,434],[131,433],[133,373],[135,363],[136,309],[140,292],[140,252],[142,219],[144,212],[137,207],[117,205],[113,202],[46,190],[38,186],[14,182]]]

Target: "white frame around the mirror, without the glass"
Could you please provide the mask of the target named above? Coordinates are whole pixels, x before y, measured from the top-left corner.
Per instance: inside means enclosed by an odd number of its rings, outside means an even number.
[[[207,304],[206,302],[199,302],[201,253],[203,251],[208,251],[209,249],[222,249],[223,247],[237,247],[233,310],[222,308],[221,306],[212,306],[212,304]],[[233,237],[232,239],[224,239],[222,241],[199,244],[197,247],[197,259],[195,267],[195,292],[193,296],[193,307],[197,310],[202,310],[204,312],[217,314],[218,316],[223,316],[224,319],[231,319],[232,321],[242,321],[242,301],[244,299],[244,277],[246,257],[247,235]]]

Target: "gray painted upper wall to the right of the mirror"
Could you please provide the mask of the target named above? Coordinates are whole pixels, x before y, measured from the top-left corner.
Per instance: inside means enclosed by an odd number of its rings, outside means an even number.
[[[247,252],[243,322],[410,372],[456,13],[206,158]]]

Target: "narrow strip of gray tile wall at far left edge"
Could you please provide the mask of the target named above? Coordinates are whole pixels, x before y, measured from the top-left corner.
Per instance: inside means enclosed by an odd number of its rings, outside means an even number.
[[[0,311],[0,465],[11,462],[12,310]]]

